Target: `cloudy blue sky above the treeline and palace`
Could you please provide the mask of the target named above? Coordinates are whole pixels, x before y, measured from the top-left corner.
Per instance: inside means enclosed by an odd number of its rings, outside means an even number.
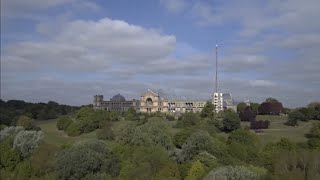
[[[319,0],[2,0],[1,99],[320,101]]]

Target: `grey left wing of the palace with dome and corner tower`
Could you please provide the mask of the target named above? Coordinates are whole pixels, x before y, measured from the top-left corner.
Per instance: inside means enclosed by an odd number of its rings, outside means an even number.
[[[134,108],[136,111],[139,111],[139,101],[135,99],[132,101],[127,101],[120,94],[113,96],[110,101],[104,101],[103,95],[95,95],[93,100],[93,108],[117,112],[124,112],[129,108]]]

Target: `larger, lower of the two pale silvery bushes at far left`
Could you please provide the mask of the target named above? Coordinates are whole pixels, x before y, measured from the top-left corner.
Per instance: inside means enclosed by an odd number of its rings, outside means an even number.
[[[42,138],[42,131],[20,131],[14,138],[13,147],[26,158],[39,145]]]

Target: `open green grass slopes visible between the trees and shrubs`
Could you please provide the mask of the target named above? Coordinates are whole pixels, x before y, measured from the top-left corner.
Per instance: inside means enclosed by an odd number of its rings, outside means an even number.
[[[292,127],[286,126],[284,123],[287,121],[286,116],[257,116],[257,120],[269,120],[270,127],[269,129],[265,129],[263,133],[257,134],[260,138],[262,144],[268,142],[276,142],[279,141],[282,137],[288,138],[293,142],[303,142],[306,141],[307,138],[305,134],[309,132],[312,123],[315,121],[308,121],[308,122],[299,122],[299,126]],[[56,144],[58,146],[63,144],[71,144],[76,141],[86,140],[86,139],[95,139],[96,138],[96,131],[81,134],[77,137],[69,137],[65,132],[59,131],[56,128],[57,120],[47,120],[47,121],[38,121],[37,125],[42,129],[44,132],[44,141],[50,144]],[[124,126],[127,121],[117,121],[113,123],[113,129],[115,131],[119,130],[122,126]],[[172,123],[175,122],[168,122],[170,127],[173,127]],[[241,122],[241,125],[249,126],[248,122]],[[175,134],[179,132],[180,129],[170,128],[170,133]],[[228,137],[226,133],[219,133],[220,136]]]

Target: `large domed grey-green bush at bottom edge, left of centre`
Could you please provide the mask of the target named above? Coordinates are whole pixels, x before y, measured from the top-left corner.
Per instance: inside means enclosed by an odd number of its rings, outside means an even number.
[[[62,179],[80,179],[91,173],[117,176],[120,162],[103,142],[87,141],[64,150],[58,156],[56,171]]]

